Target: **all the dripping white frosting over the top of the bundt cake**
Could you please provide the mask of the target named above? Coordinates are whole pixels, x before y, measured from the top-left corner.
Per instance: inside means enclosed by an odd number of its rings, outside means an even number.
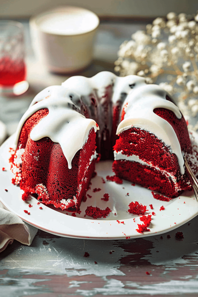
[[[72,159],[83,147],[90,129],[92,127],[95,131],[99,129],[96,122],[103,131],[105,119],[111,130],[112,119],[103,113],[107,89],[108,94],[111,95],[111,102],[114,105],[117,102],[123,102],[122,106],[125,110],[125,116],[118,125],[117,134],[132,126],[155,134],[170,146],[172,153],[176,154],[180,172],[183,174],[184,160],[175,131],[166,120],[153,113],[153,110],[167,108],[172,110],[178,119],[181,118],[181,113],[174,103],[166,100],[168,95],[166,91],[157,85],[147,85],[144,78],[136,75],[118,77],[104,71],[92,78],[73,76],[61,86],[50,86],[44,89],[33,99],[22,117],[17,129],[15,145],[17,146],[20,130],[26,119],[37,110],[47,108],[48,115],[32,129],[30,137],[32,140],[39,140],[47,136],[52,141],[60,143],[68,167],[71,168]],[[96,105],[91,103],[92,98],[96,101]],[[112,104],[111,102],[108,104]],[[80,114],[82,105],[85,109],[87,108],[91,119],[86,119]]]

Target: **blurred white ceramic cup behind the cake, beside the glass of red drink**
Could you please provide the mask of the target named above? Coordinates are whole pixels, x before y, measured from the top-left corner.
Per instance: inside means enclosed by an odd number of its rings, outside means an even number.
[[[39,61],[56,73],[77,72],[93,58],[98,16],[79,7],[59,7],[30,19],[32,46]]]

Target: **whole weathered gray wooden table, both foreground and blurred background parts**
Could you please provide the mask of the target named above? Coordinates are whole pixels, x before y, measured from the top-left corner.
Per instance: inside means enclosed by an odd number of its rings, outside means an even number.
[[[28,23],[24,24],[30,88],[20,97],[0,98],[0,120],[7,124],[9,134],[15,132],[39,91],[67,78],[42,69],[31,50]],[[103,22],[94,62],[80,75],[91,77],[102,70],[113,71],[121,42],[144,27]],[[14,241],[0,254],[0,296],[198,296],[197,226],[195,217],[163,234],[163,238],[109,241],[64,238],[39,230],[30,247]],[[178,231],[183,232],[182,240],[175,238]],[[90,256],[83,257],[85,252]]]

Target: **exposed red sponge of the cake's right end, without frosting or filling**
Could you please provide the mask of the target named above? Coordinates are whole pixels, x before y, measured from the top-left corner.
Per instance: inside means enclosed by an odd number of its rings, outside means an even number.
[[[191,142],[183,116],[181,119],[177,119],[171,110],[165,108],[156,108],[154,113],[168,121],[174,128],[182,151],[191,153]],[[132,127],[121,132],[119,136],[114,146],[116,152],[122,150],[123,154],[127,156],[136,155],[142,161],[151,163],[152,166],[128,160],[115,160],[113,171],[117,176],[151,190],[159,191],[168,197],[176,197],[183,190],[189,189],[189,185],[183,182],[188,177],[185,176],[186,173],[181,176],[176,155],[172,154],[170,148],[154,134]],[[173,182],[170,175],[176,183]]]

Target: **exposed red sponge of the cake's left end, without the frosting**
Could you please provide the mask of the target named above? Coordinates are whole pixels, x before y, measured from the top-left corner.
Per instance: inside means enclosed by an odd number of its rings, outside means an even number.
[[[37,192],[42,195],[43,203],[53,204],[62,210],[65,207],[60,201],[71,198],[71,201],[66,202],[67,211],[77,211],[95,169],[95,159],[89,165],[88,156],[94,154],[96,135],[92,128],[83,149],[77,151],[72,160],[72,169],[68,169],[59,143],[54,143],[48,137],[38,141],[30,138],[33,127],[47,114],[48,109],[37,111],[25,122],[21,130],[18,148],[25,149],[25,153],[20,188],[27,194],[26,197]],[[44,192],[46,195],[43,195]]]

